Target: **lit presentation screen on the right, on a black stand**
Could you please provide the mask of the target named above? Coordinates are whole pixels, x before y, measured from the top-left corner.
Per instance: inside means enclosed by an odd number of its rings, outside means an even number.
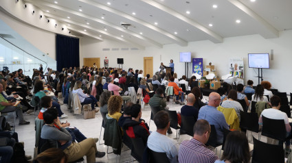
[[[249,68],[269,68],[269,53],[249,53]]]

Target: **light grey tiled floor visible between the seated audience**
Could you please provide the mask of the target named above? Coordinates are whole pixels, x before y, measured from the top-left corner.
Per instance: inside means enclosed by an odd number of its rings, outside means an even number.
[[[207,98],[207,97],[204,97],[204,98]],[[182,105],[175,104],[175,103],[168,103],[168,107],[170,108],[170,110],[180,111]],[[63,110],[63,112],[65,112],[65,114],[68,115],[67,118],[61,119],[61,122],[68,121],[71,124],[71,126],[77,127],[85,136],[87,136],[87,138],[99,138],[100,137],[100,128],[102,125],[102,116],[101,116],[100,112],[98,112],[96,114],[96,118],[85,120],[82,118],[82,116],[74,116],[73,113],[71,113],[71,112],[69,112],[69,110],[67,110],[67,105],[65,105],[65,104],[61,105],[61,109]],[[34,119],[36,118],[36,116],[34,116],[34,114],[30,114],[30,115],[25,115],[24,118],[25,118],[25,121],[30,121],[30,125],[23,125],[23,126],[16,125],[16,132],[19,134],[19,141],[25,143],[25,154],[33,156],[34,145],[35,145]],[[142,110],[142,118],[144,118],[144,120],[148,123],[148,125],[150,125],[150,131],[156,130],[156,126],[155,126],[155,123],[153,121],[150,121],[150,124],[149,124],[150,107],[147,105],[145,106],[144,110]],[[104,129],[102,128],[101,139],[103,137],[103,132],[104,132]],[[170,138],[176,138],[175,129],[172,129],[172,132],[173,132],[173,134],[169,134],[168,136]],[[256,133],[254,133],[254,136],[256,138],[258,138],[257,137],[258,135]],[[188,135],[181,135],[178,142],[180,143],[181,141],[188,140],[190,138],[191,137]],[[251,137],[249,136],[249,139],[250,138]],[[263,139],[265,139],[265,138],[263,138]],[[102,142],[103,142],[103,140],[102,140]],[[98,147],[98,151],[106,151],[105,145],[99,145],[97,143],[97,147]],[[218,149],[221,149],[221,147],[218,147]],[[109,147],[109,151],[111,151],[111,147]],[[216,151],[219,154],[220,150],[216,150]],[[116,159],[117,159],[117,162],[119,160],[120,160],[120,162],[129,162],[129,161],[133,160],[133,157],[131,157],[131,151],[126,150],[126,147],[124,147],[122,149],[121,157],[118,156],[116,158],[116,155],[111,153],[109,155],[104,156],[104,158],[97,158],[96,162],[115,162]]]

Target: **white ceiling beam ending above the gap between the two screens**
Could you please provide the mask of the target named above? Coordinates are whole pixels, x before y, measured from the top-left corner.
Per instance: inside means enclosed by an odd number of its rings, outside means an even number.
[[[155,8],[158,8],[159,10],[162,10],[172,16],[175,16],[176,18],[181,19],[181,21],[184,21],[190,25],[192,25],[193,27],[196,27],[197,29],[200,29],[202,32],[204,32],[205,34],[209,35],[211,38],[210,40],[214,43],[220,43],[223,42],[223,37],[219,36],[218,34],[216,34],[215,32],[212,32],[212,30],[207,29],[206,27],[204,27],[203,25],[197,23],[196,21],[192,20],[191,18],[188,18],[186,16],[183,16],[182,14],[180,14],[179,12],[172,10],[171,8],[166,7],[165,5],[162,5],[161,3],[158,3],[156,1],[152,1],[152,0],[141,0],[144,1],[145,3],[152,5]]]

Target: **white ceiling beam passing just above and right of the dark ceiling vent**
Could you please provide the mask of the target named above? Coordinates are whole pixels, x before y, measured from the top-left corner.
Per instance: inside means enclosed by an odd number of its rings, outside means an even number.
[[[128,18],[131,21],[135,21],[136,23],[144,25],[145,27],[153,29],[154,31],[159,32],[160,34],[163,34],[164,36],[167,36],[168,38],[174,40],[178,45],[181,45],[183,47],[188,45],[188,42],[186,42],[186,40],[183,40],[183,39],[181,39],[181,38],[179,38],[177,36],[174,36],[173,34],[170,34],[169,32],[166,32],[163,29],[160,29],[159,27],[155,27],[155,25],[151,25],[150,23],[142,21],[139,18],[136,18],[136,17],[131,16],[129,14],[126,14],[124,12],[120,12],[119,10],[115,10],[113,8],[109,8],[108,6],[102,5],[102,4],[97,3],[95,1],[89,1],[89,0],[78,0],[78,1],[81,1],[83,3],[87,3],[89,5],[93,5],[96,8],[100,8],[102,10],[106,10],[107,12],[111,12],[113,14],[117,14],[117,15],[123,16],[124,18]]]

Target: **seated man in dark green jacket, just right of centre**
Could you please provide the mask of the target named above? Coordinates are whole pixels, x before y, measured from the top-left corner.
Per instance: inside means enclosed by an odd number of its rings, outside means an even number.
[[[156,110],[157,112],[160,110],[169,110],[169,108],[166,106],[166,101],[164,101],[164,90],[162,88],[157,88],[155,95],[149,100],[149,105],[151,110],[153,108],[159,108],[159,110]],[[172,134],[170,127],[168,128],[167,133]]]

